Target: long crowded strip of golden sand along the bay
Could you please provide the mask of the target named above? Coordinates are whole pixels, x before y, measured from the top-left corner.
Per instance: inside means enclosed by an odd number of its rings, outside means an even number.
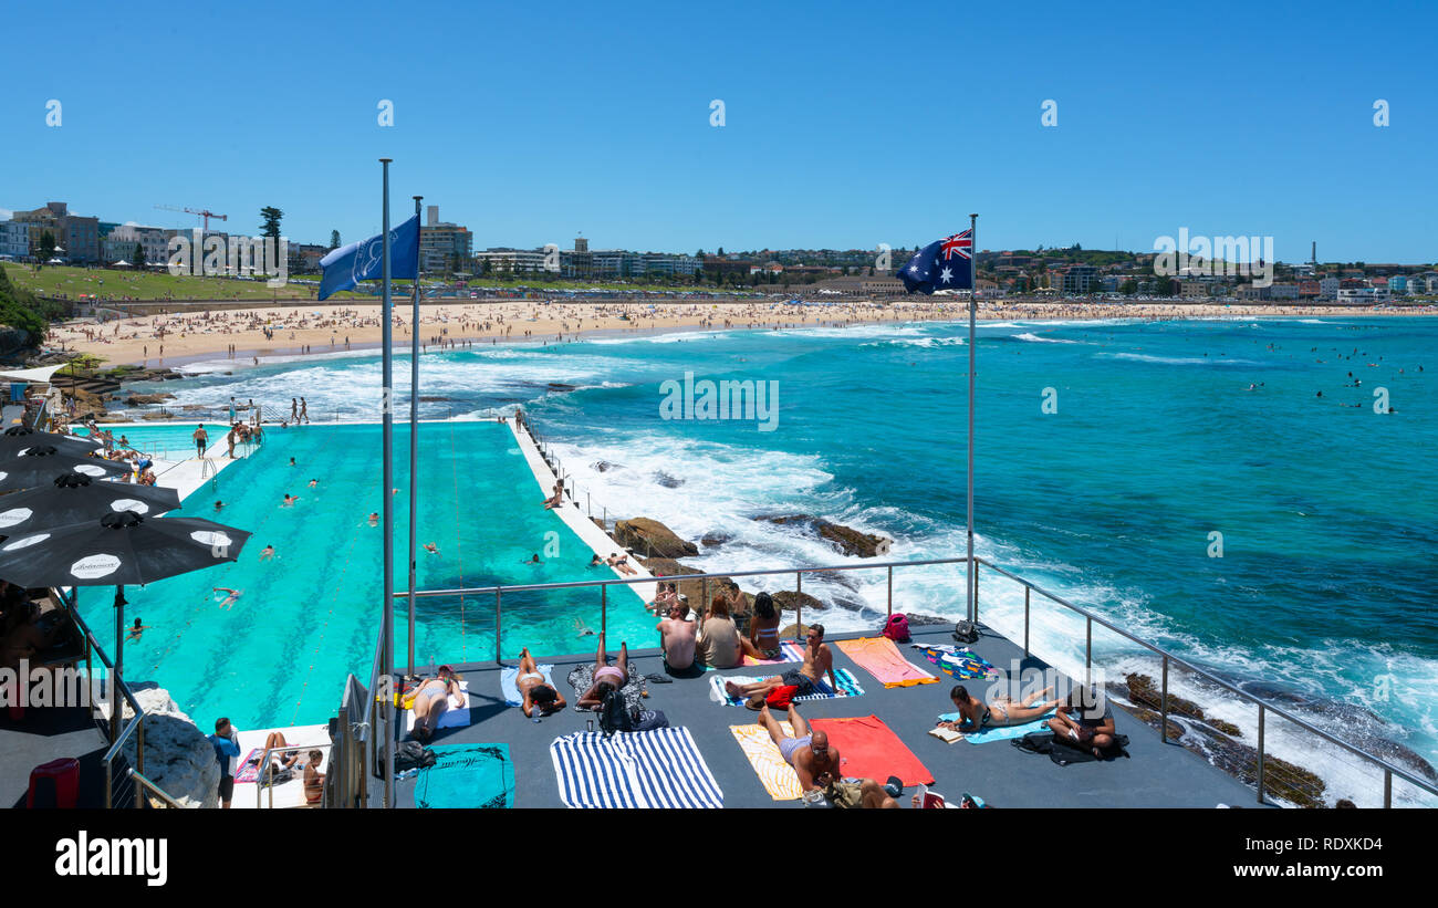
[[[410,346],[410,303],[395,300],[394,343]],[[1221,318],[1352,318],[1438,315],[1438,307],[1373,309],[1355,306],[1224,306],[1176,303],[1093,303],[981,300],[979,319],[1221,319]],[[552,343],[603,332],[667,332],[720,328],[830,328],[880,322],[955,320],[968,318],[962,297],[870,300],[797,306],[771,302],[426,302],[420,310],[420,342],[426,351],[477,343]],[[255,361],[270,355],[325,353],[378,348],[380,306],[303,303],[255,309],[190,310],[170,315],[69,322],[52,328],[47,345],[99,356],[106,366],[150,368],[230,356]]]

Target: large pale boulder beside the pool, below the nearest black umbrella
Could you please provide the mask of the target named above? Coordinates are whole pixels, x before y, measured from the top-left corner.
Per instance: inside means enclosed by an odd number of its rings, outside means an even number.
[[[219,807],[220,764],[214,760],[210,738],[180,711],[170,691],[158,687],[139,690],[135,700],[145,711],[145,777],[187,807]],[[129,704],[124,707],[124,718],[134,717]],[[137,740],[138,736],[131,736],[124,753],[125,760],[138,769]]]

